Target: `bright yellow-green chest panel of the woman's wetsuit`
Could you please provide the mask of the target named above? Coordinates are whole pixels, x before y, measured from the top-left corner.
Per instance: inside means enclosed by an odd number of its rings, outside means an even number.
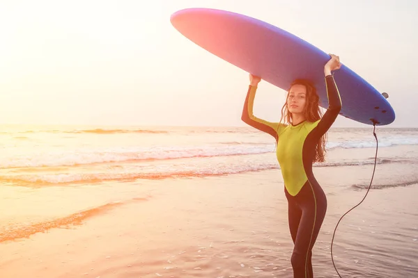
[[[318,122],[302,122],[296,126],[289,124],[279,131],[277,161],[279,161],[284,185],[288,193],[293,196],[297,195],[307,182],[303,164],[304,155],[307,154],[303,153],[303,147],[307,136],[318,125]]]

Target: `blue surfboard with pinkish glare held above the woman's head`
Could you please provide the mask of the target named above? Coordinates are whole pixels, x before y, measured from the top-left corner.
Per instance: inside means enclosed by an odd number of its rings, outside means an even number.
[[[226,10],[186,8],[173,13],[170,21],[199,47],[282,90],[287,91],[294,79],[309,79],[316,85],[320,106],[327,108],[323,67],[330,56],[313,44],[267,22]],[[363,124],[394,122],[394,109],[386,95],[342,64],[333,72],[342,102],[340,115]]]

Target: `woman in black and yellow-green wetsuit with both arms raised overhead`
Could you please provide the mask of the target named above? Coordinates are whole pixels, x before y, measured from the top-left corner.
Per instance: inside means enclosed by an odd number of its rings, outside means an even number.
[[[242,120],[269,133],[277,142],[277,160],[284,178],[288,199],[288,224],[294,243],[291,264],[293,277],[314,277],[312,248],[327,210],[327,198],[312,172],[314,162],[323,162],[327,130],[341,111],[341,99],[331,72],[339,70],[339,57],[331,58],[324,67],[329,107],[321,118],[319,97],[309,81],[299,79],[291,84],[281,120],[268,122],[253,115],[254,97],[261,79],[249,74],[250,85],[242,111]]]

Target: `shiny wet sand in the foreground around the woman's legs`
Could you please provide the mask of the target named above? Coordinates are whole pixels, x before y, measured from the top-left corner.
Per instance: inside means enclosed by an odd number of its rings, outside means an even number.
[[[380,149],[380,156],[394,151],[412,155],[418,148]],[[341,152],[358,155],[342,149],[330,159]],[[316,277],[336,277],[330,256],[334,227],[364,197],[372,170],[373,165],[315,168],[328,198],[314,247]],[[418,273],[416,172],[416,164],[378,165],[375,188],[336,232],[334,261],[342,277]],[[387,186],[399,177],[403,186]],[[131,198],[27,238],[3,240],[0,277],[292,277],[279,170],[117,186]]]

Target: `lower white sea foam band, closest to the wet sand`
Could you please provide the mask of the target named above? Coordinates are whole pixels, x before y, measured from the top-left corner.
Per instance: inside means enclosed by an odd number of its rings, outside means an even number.
[[[377,163],[402,162],[399,160],[378,159]],[[374,159],[366,161],[343,161],[332,163],[315,163],[314,167],[339,167],[352,165],[371,165]],[[234,161],[220,161],[213,159],[205,163],[125,163],[113,167],[93,167],[79,171],[53,172],[49,169],[39,169],[33,172],[22,174],[3,174],[0,181],[13,184],[63,184],[63,183],[98,183],[102,181],[123,181],[137,179],[173,179],[184,177],[210,177],[218,175],[239,174],[244,172],[255,172],[261,170],[280,170],[279,164],[272,158],[265,163],[262,159],[242,159]]]

